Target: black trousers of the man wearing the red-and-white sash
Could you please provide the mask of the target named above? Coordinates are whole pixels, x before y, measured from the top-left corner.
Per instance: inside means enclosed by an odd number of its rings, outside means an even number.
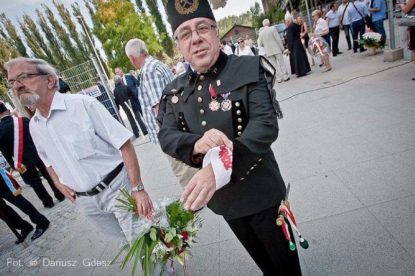
[[[25,173],[20,173],[20,176],[23,179],[24,183],[33,188],[36,195],[38,196],[38,198],[44,206],[51,206],[53,204],[53,198],[49,195],[48,191],[43,186],[42,180],[40,179],[39,173],[36,170],[35,166],[38,167],[43,177],[46,179],[46,181],[48,181],[49,186],[52,188],[55,194],[55,197],[58,200],[63,199],[65,196],[59,190],[57,190],[55,184],[53,183],[49,173],[45,168],[45,165],[42,162],[38,162],[33,166],[27,167],[27,171]]]

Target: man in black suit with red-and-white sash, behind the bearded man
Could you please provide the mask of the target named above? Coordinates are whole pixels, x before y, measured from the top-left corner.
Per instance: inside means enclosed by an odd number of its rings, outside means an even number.
[[[33,188],[39,199],[42,201],[43,206],[46,208],[52,208],[55,206],[52,197],[42,184],[42,180],[39,177],[38,170],[42,173],[42,176],[49,183],[49,186],[53,190],[55,197],[59,201],[65,200],[65,196],[57,190],[53,183],[49,173],[47,172],[45,165],[38,155],[35,144],[29,131],[29,119],[22,118],[22,130],[23,132],[23,146],[21,163],[26,166],[25,172],[19,172],[24,183]],[[10,110],[6,108],[3,103],[0,103],[0,151],[10,167],[16,170],[14,167],[14,143],[15,143],[15,126],[13,117],[10,115]],[[38,168],[38,170],[36,169]]]

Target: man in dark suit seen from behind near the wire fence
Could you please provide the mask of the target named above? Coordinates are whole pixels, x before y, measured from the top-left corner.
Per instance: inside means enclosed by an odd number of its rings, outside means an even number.
[[[127,115],[128,121],[130,121],[132,133],[134,133],[135,137],[139,137],[139,131],[137,128],[137,124],[134,121],[134,118],[132,117],[130,109],[127,107],[127,105],[124,102],[130,101],[132,111],[134,112],[135,119],[137,120],[138,124],[140,125],[141,130],[143,131],[144,135],[147,135],[146,126],[141,120],[140,112],[138,111],[138,106],[136,103],[136,97],[134,92],[132,92],[130,86],[126,86],[122,84],[122,79],[120,76],[116,75],[114,77],[114,97],[115,97],[115,104],[117,104],[118,109],[120,108],[120,105],[122,109],[124,110],[125,114]]]

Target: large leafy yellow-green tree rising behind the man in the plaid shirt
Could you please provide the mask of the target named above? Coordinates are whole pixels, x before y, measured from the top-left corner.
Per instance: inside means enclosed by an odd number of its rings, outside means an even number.
[[[111,68],[130,65],[125,54],[125,45],[132,38],[143,40],[152,55],[162,50],[150,18],[145,14],[136,13],[130,1],[94,0],[94,2],[96,12],[92,18],[96,25],[93,34],[101,41]]]

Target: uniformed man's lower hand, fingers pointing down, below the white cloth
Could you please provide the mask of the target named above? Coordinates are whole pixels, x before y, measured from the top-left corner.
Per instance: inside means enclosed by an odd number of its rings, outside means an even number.
[[[180,202],[185,202],[185,209],[193,211],[207,205],[216,191],[215,174],[213,173],[212,164],[209,164],[197,172],[180,197]]]

